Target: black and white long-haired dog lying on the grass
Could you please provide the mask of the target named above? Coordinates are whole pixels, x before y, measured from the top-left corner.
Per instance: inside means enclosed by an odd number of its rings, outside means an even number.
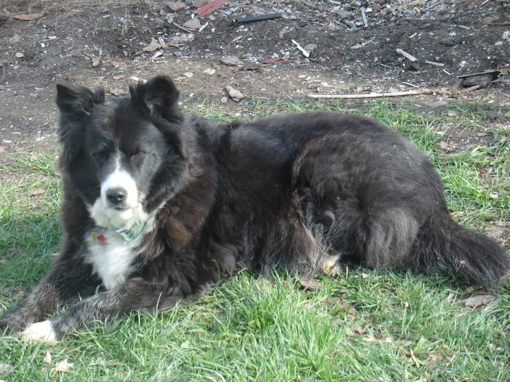
[[[333,112],[218,123],[178,99],[163,75],[124,98],[57,83],[61,249],[4,334],[56,341],[196,301],[242,269],[398,267],[486,288],[507,272],[507,251],[453,221],[429,159],[386,125]]]

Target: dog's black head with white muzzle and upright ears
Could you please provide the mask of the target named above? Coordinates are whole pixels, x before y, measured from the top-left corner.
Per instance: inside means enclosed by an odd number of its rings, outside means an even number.
[[[57,83],[61,168],[98,225],[146,221],[179,188],[193,137],[178,98],[166,76],[130,86],[125,98]]]

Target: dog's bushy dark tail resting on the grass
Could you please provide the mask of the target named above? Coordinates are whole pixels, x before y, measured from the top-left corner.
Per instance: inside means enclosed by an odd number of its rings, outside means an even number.
[[[509,268],[509,255],[496,241],[463,228],[444,214],[423,226],[411,249],[411,268],[446,269],[470,283],[495,288]]]

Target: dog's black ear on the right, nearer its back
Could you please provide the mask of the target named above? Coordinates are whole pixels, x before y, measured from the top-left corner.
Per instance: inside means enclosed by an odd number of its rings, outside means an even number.
[[[146,83],[139,81],[129,87],[131,100],[139,103],[150,114],[158,115],[167,121],[180,119],[179,90],[168,76],[153,77]]]

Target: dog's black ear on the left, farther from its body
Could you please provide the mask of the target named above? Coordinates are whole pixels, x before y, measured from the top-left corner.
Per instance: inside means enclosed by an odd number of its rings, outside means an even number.
[[[83,119],[99,103],[104,103],[104,88],[90,90],[67,81],[57,83],[57,106],[62,116],[71,121]]]

